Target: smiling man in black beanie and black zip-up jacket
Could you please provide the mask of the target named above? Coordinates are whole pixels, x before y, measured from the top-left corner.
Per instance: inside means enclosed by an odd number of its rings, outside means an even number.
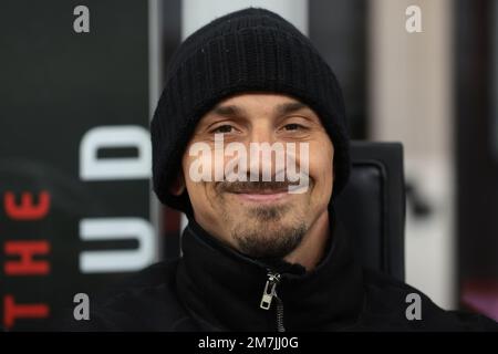
[[[334,212],[350,173],[342,93],[310,41],[279,15],[246,9],[190,35],[168,66],[151,132],[154,189],[189,220],[183,257],[93,308],[92,329],[497,329],[353,258]],[[258,158],[268,146],[270,157]],[[421,296],[415,317],[411,293]]]

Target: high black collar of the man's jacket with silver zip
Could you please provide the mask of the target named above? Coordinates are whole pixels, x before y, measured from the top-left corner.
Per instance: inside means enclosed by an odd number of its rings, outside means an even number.
[[[190,220],[181,238],[177,289],[200,329],[276,331],[278,317],[290,331],[339,330],[355,322],[364,296],[362,270],[332,206],[329,215],[323,260],[311,272],[300,266],[280,269],[281,301],[273,298],[269,310],[260,303],[270,267],[225,247]]]

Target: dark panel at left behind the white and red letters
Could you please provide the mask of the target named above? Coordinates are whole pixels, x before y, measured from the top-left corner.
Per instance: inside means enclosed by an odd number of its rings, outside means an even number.
[[[90,9],[90,33],[75,33],[73,9]],[[149,181],[80,179],[80,144],[97,126],[148,128],[147,1],[2,1],[0,3],[0,314],[4,296],[44,303],[51,316],[73,295],[92,299],[125,273],[82,274],[81,251],[135,248],[133,241],[80,240],[83,218],[149,218]],[[105,152],[104,152],[105,153]],[[114,152],[115,153],[115,152]],[[112,153],[107,152],[106,156]],[[127,152],[133,156],[136,152]],[[123,155],[122,154],[122,155]],[[8,218],[3,197],[49,191],[42,220]],[[18,199],[19,201],[19,199]],[[4,244],[44,240],[45,275],[8,277]],[[19,320],[11,330],[41,330],[45,320]]]

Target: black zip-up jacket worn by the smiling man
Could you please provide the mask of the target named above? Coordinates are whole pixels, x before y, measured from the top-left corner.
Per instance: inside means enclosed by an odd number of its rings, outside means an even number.
[[[349,238],[331,218],[324,259],[312,272],[299,264],[258,262],[224,247],[195,221],[183,233],[183,257],[134,275],[71,330],[94,331],[498,331],[485,316],[444,311],[418,290],[363,270]],[[268,310],[266,285],[280,277]],[[268,282],[268,284],[267,284]],[[408,320],[409,293],[421,320]]]

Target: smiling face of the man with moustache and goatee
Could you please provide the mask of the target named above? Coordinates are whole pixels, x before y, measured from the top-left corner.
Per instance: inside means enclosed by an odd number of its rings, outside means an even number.
[[[241,175],[247,173],[247,181],[241,178],[228,181],[222,176],[230,160],[234,163],[240,157],[234,150],[224,154],[230,143],[240,143],[238,146],[248,152],[246,164],[239,159],[236,168]],[[289,192],[289,185],[299,183],[289,178],[276,181],[277,174],[282,173],[282,165],[278,163],[282,155],[272,154],[269,160],[262,155],[259,159],[252,158],[251,143],[293,145],[294,150],[284,148],[286,157],[291,157],[284,166],[289,168],[292,162],[298,171],[308,167],[308,188]],[[209,146],[210,153],[203,157],[189,153],[199,145]],[[197,124],[183,156],[179,186],[186,187],[196,221],[210,235],[253,258],[283,258],[301,243],[308,230],[328,210],[333,154],[332,142],[320,118],[307,105],[287,95],[240,94],[220,102]],[[211,180],[199,181],[198,177],[193,177],[199,162],[204,173],[210,169]],[[264,168],[271,170],[271,181],[262,180]]]

